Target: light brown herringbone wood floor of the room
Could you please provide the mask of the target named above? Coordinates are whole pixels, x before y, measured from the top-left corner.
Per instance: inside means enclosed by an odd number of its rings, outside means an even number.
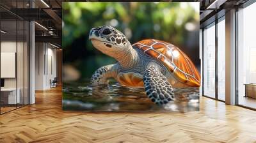
[[[256,112],[201,97],[200,111],[84,113],[61,110],[61,88],[0,116],[0,142],[256,142]]]

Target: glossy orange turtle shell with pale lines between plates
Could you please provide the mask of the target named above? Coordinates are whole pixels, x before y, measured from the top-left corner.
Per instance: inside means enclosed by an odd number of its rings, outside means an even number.
[[[132,47],[137,47],[148,56],[161,61],[180,82],[188,86],[200,86],[200,73],[191,59],[178,47],[171,43],[154,39],[138,41]]]

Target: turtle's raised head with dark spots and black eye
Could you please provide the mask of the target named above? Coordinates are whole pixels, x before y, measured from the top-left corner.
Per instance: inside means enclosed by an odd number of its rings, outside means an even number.
[[[89,39],[96,49],[111,57],[124,52],[131,45],[123,33],[111,26],[92,28]]]

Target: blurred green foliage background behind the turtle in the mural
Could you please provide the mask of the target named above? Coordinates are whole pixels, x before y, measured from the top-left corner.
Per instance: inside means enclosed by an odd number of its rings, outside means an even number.
[[[186,49],[189,46],[186,41],[191,38],[189,33],[199,30],[199,6],[195,5],[168,2],[63,3],[64,64],[72,64],[83,78],[90,77],[100,66],[113,63],[113,58],[100,54],[88,40],[90,29],[103,25],[116,27],[131,43],[155,38]]]

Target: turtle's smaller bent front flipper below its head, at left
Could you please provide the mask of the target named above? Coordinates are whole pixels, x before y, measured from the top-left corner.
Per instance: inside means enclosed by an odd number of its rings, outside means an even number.
[[[108,84],[110,77],[116,77],[117,75],[117,64],[109,64],[108,66],[102,66],[92,75],[92,84]]]

